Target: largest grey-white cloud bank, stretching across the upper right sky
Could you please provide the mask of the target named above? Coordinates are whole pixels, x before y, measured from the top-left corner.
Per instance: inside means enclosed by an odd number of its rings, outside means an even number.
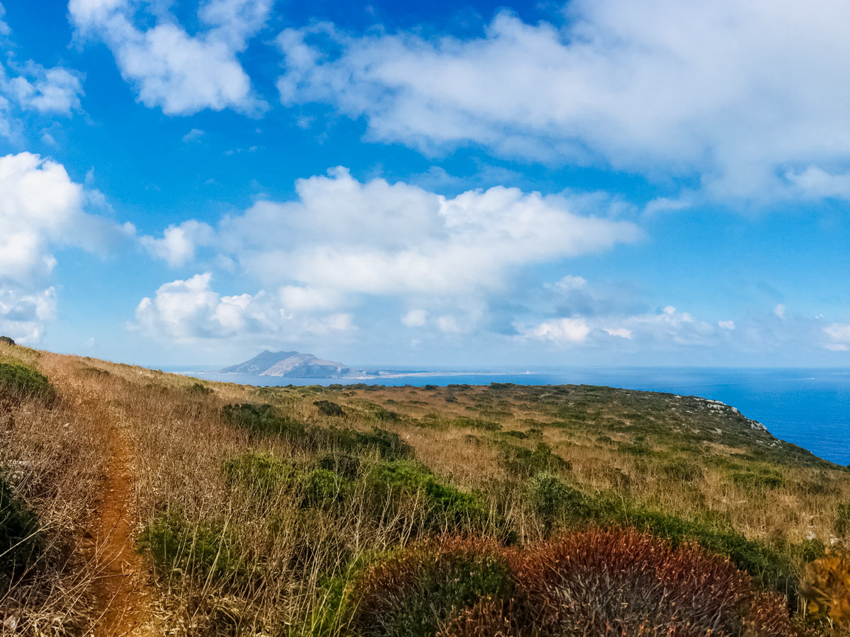
[[[432,152],[699,176],[718,197],[847,196],[850,5],[576,0],[564,15],[502,11],[467,40],[287,29],[280,99]]]

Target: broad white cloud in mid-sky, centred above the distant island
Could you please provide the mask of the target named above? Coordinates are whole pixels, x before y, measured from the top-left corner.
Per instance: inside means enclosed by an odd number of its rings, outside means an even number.
[[[222,251],[278,285],[386,296],[485,294],[505,289],[518,268],[642,237],[632,223],[579,216],[567,198],[519,189],[446,198],[407,183],[360,183],[336,168],[299,180],[296,191],[295,201],[259,201],[219,228]]]

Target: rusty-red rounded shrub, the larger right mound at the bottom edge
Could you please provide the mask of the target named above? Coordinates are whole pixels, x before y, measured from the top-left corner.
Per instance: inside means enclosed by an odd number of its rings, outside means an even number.
[[[634,530],[592,529],[515,555],[519,613],[535,635],[789,635],[784,600],[728,559]]]

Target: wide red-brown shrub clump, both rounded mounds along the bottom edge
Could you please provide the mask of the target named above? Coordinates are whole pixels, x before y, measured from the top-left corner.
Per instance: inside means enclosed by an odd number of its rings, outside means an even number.
[[[366,572],[364,635],[790,637],[785,601],[723,557],[632,529],[525,549],[443,537]]]

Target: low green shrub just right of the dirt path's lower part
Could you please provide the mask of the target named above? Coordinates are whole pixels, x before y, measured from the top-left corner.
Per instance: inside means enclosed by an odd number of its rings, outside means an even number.
[[[242,583],[249,569],[238,545],[223,525],[192,524],[175,511],[156,517],[139,536],[163,575],[215,578],[222,583]]]

